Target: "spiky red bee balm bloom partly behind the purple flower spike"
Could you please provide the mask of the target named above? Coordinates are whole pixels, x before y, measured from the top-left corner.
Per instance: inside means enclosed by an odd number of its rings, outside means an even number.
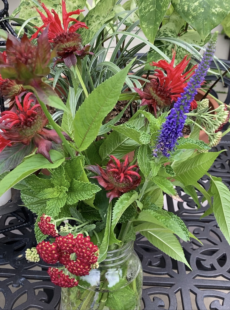
[[[154,74],[156,78],[151,79],[143,91],[139,88],[134,88],[140,95],[142,100],[141,105],[147,104],[149,110],[153,111],[155,116],[157,110],[171,106],[173,102],[177,101],[177,98],[181,96],[180,94],[184,92],[183,89],[187,86],[186,81],[193,75],[193,70],[196,68],[196,66],[193,66],[191,70],[182,74],[190,58],[187,59],[186,55],[178,65],[173,67],[175,56],[176,53],[174,52],[170,64],[165,60],[151,63],[152,66],[157,66],[165,70],[166,76],[162,70],[155,69],[157,72]],[[197,103],[193,100],[191,102],[191,109],[195,108],[197,108]]]

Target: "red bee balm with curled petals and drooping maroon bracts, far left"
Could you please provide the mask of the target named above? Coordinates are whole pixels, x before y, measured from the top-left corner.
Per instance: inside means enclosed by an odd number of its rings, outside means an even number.
[[[11,142],[21,142],[29,145],[33,140],[34,145],[38,148],[36,153],[42,154],[51,161],[49,151],[52,148],[52,142],[61,143],[61,138],[55,130],[44,128],[48,120],[34,95],[29,92],[25,95],[23,106],[20,103],[18,96],[15,97],[18,109],[13,107],[10,111],[2,112],[0,118],[0,128],[3,138]],[[70,140],[70,137],[62,132],[65,139]]]

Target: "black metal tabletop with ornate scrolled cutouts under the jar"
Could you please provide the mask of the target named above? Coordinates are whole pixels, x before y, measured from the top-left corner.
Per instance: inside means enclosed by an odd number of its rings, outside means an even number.
[[[222,177],[230,186],[230,134],[225,135],[215,151],[219,155],[210,169],[214,176]],[[209,187],[207,177],[199,183]],[[197,210],[194,201],[177,188],[184,202],[165,195],[164,208],[180,216],[190,231],[203,242],[203,246],[192,239],[182,242],[190,271],[183,263],[171,259],[138,234],[135,250],[144,270],[142,301],[144,309],[230,309],[230,246],[223,237],[213,215],[200,220],[208,205]],[[201,201],[202,195],[198,193]],[[18,193],[12,197],[21,204]],[[14,202],[15,201],[15,202]],[[25,250],[35,245],[31,217],[25,210],[12,207],[11,213],[2,215],[0,229],[0,308],[2,309],[55,309],[60,302],[61,289],[50,282],[47,275],[49,265],[27,262]],[[30,223],[30,224],[29,224]],[[142,240],[144,239],[144,240]],[[142,307],[142,308],[143,308]]]

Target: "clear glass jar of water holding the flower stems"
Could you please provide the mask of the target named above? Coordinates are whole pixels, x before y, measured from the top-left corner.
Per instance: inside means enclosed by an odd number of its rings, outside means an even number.
[[[61,288],[62,310],[138,310],[143,270],[133,241],[108,251],[98,269],[80,277],[78,286]]]

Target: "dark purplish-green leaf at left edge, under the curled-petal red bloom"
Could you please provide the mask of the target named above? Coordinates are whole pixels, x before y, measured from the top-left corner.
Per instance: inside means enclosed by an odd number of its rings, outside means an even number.
[[[34,149],[33,143],[24,145],[22,143],[16,143],[12,146],[7,146],[0,153],[0,174],[10,171],[18,166],[23,158]]]

